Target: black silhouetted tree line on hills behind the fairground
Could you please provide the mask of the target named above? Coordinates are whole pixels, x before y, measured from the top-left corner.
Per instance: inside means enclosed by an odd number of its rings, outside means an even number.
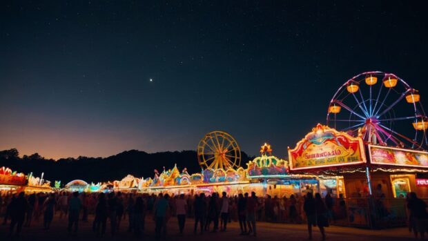
[[[241,158],[242,166],[253,159],[244,152]],[[121,180],[128,174],[135,177],[153,177],[155,169],[162,172],[164,166],[168,169],[173,168],[174,164],[177,164],[180,171],[183,168],[187,168],[189,173],[201,171],[196,151],[146,153],[130,150],[105,158],[79,156],[59,160],[46,159],[38,153],[19,157],[19,151],[15,148],[0,151],[0,166],[7,166],[12,171],[26,174],[32,172],[37,177],[43,172],[46,180],[52,183],[61,180],[62,184],[75,179],[86,182]]]

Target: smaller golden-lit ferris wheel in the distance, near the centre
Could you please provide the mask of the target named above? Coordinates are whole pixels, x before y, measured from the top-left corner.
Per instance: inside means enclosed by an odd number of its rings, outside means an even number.
[[[238,168],[241,164],[240,147],[228,133],[212,131],[197,145],[197,160],[202,168]]]

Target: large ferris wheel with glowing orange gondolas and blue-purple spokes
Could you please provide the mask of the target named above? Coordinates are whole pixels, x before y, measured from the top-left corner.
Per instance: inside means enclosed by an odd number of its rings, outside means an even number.
[[[346,81],[331,99],[327,125],[369,144],[428,147],[420,94],[391,73],[366,72]]]

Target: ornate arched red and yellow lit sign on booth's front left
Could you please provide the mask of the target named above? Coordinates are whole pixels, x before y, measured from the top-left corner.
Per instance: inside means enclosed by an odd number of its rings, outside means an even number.
[[[291,170],[343,166],[366,162],[362,139],[318,124],[294,149],[289,148]]]

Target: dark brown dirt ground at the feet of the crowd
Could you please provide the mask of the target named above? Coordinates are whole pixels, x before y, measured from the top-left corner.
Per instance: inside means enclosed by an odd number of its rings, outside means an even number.
[[[1,220],[3,221],[3,220]],[[66,218],[59,219],[58,215],[52,222],[50,230],[43,230],[42,218],[38,222],[33,222],[30,227],[23,227],[18,238],[8,238],[7,226],[0,226],[0,241],[2,240],[155,240],[155,224],[151,218],[146,218],[146,229],[140,238],[134,238],[132,233],[127,232],[128,222],[122,221],[121,227],[115,237],[110,235],[109,223],[107,222],[106,235],[97,238],[93,233],[93,216],[90,215],[88,222],[79,222],[79,230],[76,235],[68,235]],[[184,235],[179,235],[178,224],[175,218],[168,220],[168,231],[164,240],[308,240],[306,224],[274,224],[268,222],[257,223],[257,237],[240,235],[240,228],[237,222],[228,224],[226,232],[193,234],[193,219],[186,220]],[[348,228],[342,226],[330,226],[326,229],[327,240],[353,241],[353,240],[413,240],[413,236],[405,228],[387,230],[366,230]],[[313,240],[320,240],[321,235],[318,228],[313,230]]]

